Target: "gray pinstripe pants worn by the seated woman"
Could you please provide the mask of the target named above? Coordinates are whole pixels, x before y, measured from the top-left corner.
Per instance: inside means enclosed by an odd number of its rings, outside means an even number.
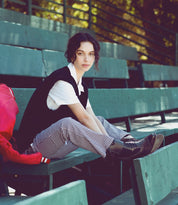
[[[122,139],[128,133],[116,128],[103,117],[98,117],[107,135],[98,134],[72,118],[63,118],[39,133],[32,148],[50,159],[62,158],[78,147],[106,156],[106,150],[113,139]]]

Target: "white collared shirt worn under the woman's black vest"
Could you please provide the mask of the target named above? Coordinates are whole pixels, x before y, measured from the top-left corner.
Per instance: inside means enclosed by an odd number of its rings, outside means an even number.
[[[71,76],[74,78],[74,80],[77,83],[77,74],[76,74],[74,65],[70,63],[68,65],[68,68],[69,68]],[[84,88],[82,85],[82,79],[80,79],[77,86],[78,86],[78,91],[80,95],[81,92],[84,91]],[[75,93],[73,86],[66,81],[63,81],[63,80],[57,81],[48,93],[47,106],[51,110],[56,110],[61,105],[71,105],[71,104],[76,104],[76,103],[80,103],[80,101]],[[91,105],[88,100],[87,107],[90,107],[90,106]]]

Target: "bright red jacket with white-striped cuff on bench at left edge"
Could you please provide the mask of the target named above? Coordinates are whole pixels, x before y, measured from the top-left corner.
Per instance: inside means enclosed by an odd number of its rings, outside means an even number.
[[[5,84],[0,84],[0,154],[3,159],[24,164],[49,163],[50,160],[42,157],[39,152],[25,155],[13,149],[9,140],[13,134],[18,112],[12,89]]]

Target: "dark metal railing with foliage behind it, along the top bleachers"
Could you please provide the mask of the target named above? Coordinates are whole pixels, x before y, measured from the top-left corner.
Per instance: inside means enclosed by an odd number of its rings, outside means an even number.
[[[175,32],[116,8],[105,0],[0,0],[0,6],[89,28],[100,41],[136,47],[139,57],[149,63],[178,63]]]

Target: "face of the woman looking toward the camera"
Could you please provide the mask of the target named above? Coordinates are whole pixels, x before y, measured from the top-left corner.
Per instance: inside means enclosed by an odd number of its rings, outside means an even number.
[[[74,67],[78,72],[85,73],[88,71],[95,61],[95,51],[93,44],[89,41],[80,43],[80,47],[76,51],[76,59]]]

